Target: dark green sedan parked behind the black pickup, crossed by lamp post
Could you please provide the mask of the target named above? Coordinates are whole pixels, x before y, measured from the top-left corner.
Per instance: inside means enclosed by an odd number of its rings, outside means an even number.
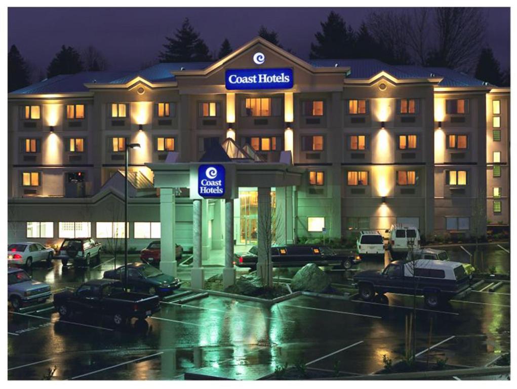
[[[104,272],[103,278],[120,281],[125,279],[126,266]],[[181,286],[179,278],[168,276],[148,263],[128,263],[128,287],[135,292],[142,292],[160,297],[173,293]]]

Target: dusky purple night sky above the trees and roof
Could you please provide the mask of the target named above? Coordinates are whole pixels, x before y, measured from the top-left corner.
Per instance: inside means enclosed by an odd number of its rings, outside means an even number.
[[[62,44],[89,44],[108,58],[112,70],[134,70],[151,61],[185,17],[210,51],[227,37],[235,49],[264,24],[280,42],[307,58],[310,42],[330,10],[357,28],[373,8],[9,8],[8,44],[39,69],[46,69]],[[510,65],[510,8],[485,8],[486,41],[501,63]]]

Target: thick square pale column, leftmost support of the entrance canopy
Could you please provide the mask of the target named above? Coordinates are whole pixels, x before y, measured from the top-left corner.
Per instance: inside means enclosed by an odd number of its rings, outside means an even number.
[[[160,188],[160,270],[170,276],[177,275],[176,245],[176,196],[174,188]]]

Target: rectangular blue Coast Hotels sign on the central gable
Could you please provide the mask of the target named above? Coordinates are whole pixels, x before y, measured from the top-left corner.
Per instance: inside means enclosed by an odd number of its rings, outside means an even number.
[[[226,89],[290,89],[293,87],[293,69],[227,69]]]

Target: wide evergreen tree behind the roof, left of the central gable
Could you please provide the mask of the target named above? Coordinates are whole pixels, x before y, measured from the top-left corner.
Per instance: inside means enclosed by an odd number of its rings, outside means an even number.
[[[176,29],[173,38],[165,37],[168,43],[165,51],[159,54],[160,62],[205,62],[211,61],[211,55],[199,33],[194,31],[188,18],[183,21],[181,28]]]

